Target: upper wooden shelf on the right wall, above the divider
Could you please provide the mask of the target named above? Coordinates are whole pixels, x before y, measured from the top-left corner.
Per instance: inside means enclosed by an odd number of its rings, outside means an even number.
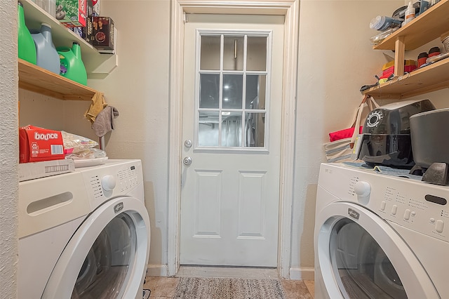
[[[439,38],[447,31],[449,31],[449,0],[441,0],[406,26],[387,36],[382,43],[373,46],[373,49],[394,50],[396,39],[403,36],[406,50],[414,50]]]

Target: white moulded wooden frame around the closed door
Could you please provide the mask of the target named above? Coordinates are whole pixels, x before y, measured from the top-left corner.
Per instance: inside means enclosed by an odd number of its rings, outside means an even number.
[[[170,12],[170,133],[168,146],[168,276],[180,266],[180,199],[182,175],[182,90],[186,13],[284,15],[281,171],[279,175],[278,272],[290,275],[295,110],[300,0],[171,0]]]

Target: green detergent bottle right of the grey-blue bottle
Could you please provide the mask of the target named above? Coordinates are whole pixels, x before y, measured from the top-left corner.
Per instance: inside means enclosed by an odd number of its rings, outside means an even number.
[[[86,67],[81,60],[81,47],[74,42],[72,48],[58,48],[60,75],[79,84],[87,85]]]

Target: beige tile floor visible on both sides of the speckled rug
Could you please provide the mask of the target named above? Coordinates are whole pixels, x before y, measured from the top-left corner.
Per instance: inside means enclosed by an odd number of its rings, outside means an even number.
[[[171,298],[178,279],[179,277],[147,277],[144,288],[152,291],[150,299]],[[287,299],[314,298],[314,281],[281,279],[281,282]]]

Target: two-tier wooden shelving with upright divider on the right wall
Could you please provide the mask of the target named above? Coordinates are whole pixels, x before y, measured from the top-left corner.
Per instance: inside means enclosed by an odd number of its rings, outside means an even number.
[[[408,25],[387,37],[376,50],[394,50],[394,78],[375,86],[363,94],[375,98],[405,99],[449,87],[449,58],[404,74],[406,50],[413,50],[438,39],[449,30],[449,0],[431,6]]]

